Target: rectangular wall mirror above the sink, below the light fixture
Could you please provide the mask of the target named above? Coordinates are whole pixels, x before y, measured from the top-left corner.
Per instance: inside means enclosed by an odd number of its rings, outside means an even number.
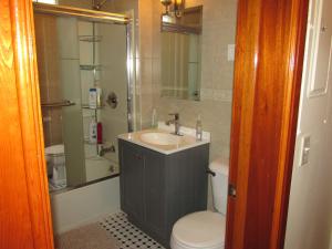
[[[203,7],[162,15],[162,96],[200,100]]]

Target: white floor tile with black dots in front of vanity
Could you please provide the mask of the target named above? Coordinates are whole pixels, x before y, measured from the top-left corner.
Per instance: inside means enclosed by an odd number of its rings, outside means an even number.
[[[118,212],[100,221],[120,243],[120,249],[165,249],[127,219],[126,214]]]

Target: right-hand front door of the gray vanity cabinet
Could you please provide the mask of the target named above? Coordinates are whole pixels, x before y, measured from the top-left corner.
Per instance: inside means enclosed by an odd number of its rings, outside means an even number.
[[[145,225],[163,237],[165,232],[165,156],[144,151]]]

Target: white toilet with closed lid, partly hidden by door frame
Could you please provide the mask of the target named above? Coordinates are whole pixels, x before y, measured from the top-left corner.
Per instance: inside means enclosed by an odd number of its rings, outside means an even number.
[[[198,211],[177,220],[170,237],[172,249],[224,249],[228,188],[228,160],[210,164],[214,205],[218,212]]]

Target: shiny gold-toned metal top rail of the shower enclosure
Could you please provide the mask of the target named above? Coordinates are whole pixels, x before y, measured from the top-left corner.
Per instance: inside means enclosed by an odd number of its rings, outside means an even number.
[[[58,6],[58,4],[48,4],[33,2],[33,10],[39,13],[51,13],[58,15],[71,15],[79,17],[83,19],[93,19],[95,21],[102,22],[113,22],[120,24],[126,24],[129,22],[129,18],[125,14],[110,13],[104,11],[95,11],[87,9],[80,9],[73,7]]]

